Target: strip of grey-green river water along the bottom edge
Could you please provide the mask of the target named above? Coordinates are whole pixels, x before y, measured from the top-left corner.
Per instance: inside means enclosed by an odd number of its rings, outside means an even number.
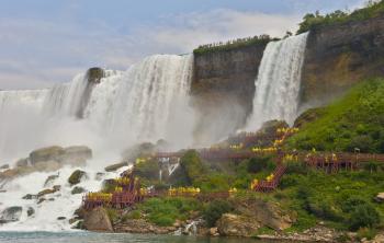
[[[106,234],[91,232],[0,232],[0,242],[70,242],[70,243],[263,243],[255,239],[237,238],[196,238],[153,234]]]

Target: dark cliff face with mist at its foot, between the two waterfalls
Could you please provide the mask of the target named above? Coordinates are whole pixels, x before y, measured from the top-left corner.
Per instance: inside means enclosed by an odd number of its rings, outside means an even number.
[[[266,44],[195,55],[193,104],[201,141],[218,138],[245,124],[252,111],[255,79]],[[206,138],[202,137],[205,136]]]

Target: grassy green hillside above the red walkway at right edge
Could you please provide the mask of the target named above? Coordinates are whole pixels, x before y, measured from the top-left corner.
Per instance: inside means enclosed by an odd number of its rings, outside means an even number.
[[[287,140],[290,149],[384,153],[384,79],[362,82]]]

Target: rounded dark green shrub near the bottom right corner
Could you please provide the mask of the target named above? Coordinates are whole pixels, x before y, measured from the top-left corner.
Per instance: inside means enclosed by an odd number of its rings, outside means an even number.
[[[352,211],[349,222],[351,230],[373,228],[380,223],[380,215],[370,204],[359,205]]]

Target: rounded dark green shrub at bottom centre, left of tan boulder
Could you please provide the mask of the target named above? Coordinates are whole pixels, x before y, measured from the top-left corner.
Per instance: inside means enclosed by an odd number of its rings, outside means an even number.
[[[233,209],[227,200],[214,200],[204,208],[203,218],[208,227],[214,227],[222,215],[230,212]]]

